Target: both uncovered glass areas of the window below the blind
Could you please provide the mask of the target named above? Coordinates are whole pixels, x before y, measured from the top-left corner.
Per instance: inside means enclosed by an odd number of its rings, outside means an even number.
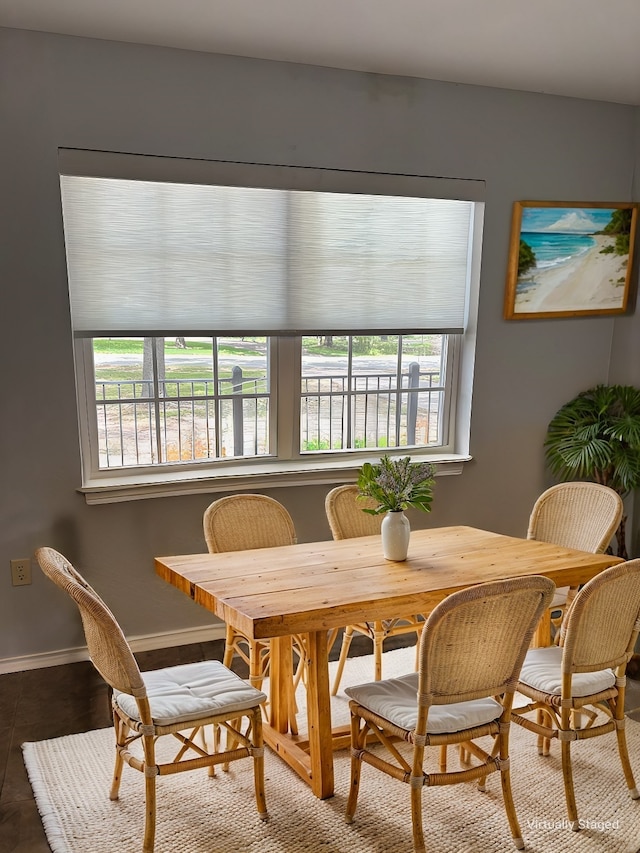
[[[270,346],[264,337],[93,338],[95,467],[282,457]],[[302,337],[297,453],[442,447],[446,348],[441,335]]]

